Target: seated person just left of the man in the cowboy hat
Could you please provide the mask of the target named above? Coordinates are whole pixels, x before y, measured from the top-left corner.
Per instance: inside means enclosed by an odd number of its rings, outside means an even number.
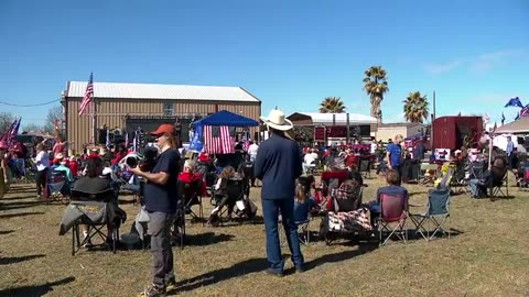
[[[240,178],[241,173],[237,173],[235,168],[231,166],[224,167],[223,172],[220,173],[220,178],[217,180],[217,184],[214,187],[215,196],[220,198],[220,202],[217,205],[216,208],[213,209],[212,215],[207,220],[208,226],[214,226],[217,223],[219,219],[219,213],[222,213],[220,211],[224,206],[228,207],[228,220],[231,220],[234,207],[237,201],[235,201],[234,199],[230,199],[234,197],[230,197],[230,195],[228,195],[228,180],[236,177]]]

